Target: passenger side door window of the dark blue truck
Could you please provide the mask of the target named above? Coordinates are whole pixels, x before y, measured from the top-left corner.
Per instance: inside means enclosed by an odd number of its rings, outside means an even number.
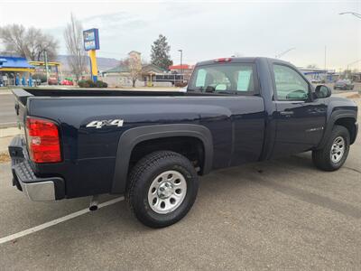
[[[309,97],[309,84],[296,70],[274,64],[273,73],[278,100],[306,100]]]

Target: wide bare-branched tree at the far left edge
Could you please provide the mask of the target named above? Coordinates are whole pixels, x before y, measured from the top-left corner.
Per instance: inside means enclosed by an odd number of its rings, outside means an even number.
[[[43,61],[44,51],[48,59],[55,61],[58,51],[58,41],[51,34],[42,33],[41,29],[22,24],[8,24],[0,27],[0,41],[5,51],[23,56],[31,61]]]

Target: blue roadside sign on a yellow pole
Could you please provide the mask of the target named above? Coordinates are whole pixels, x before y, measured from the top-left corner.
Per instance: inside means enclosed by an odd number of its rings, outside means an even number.
[[[99,46],[99,31],[97,28],[92,28],[83,31],[84,50],[88,51],[90,58],[91,79],[97,81],[97,54],[96,51],[100,49]]]

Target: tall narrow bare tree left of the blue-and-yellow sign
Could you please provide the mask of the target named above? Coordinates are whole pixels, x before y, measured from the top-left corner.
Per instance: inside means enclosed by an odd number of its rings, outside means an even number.
[[[79,80],[83,72],[87,70],[88,57],[83,48],[83,27],[73,14],[70,15],[70,23],[64,30],[64,39],[71,72]]]

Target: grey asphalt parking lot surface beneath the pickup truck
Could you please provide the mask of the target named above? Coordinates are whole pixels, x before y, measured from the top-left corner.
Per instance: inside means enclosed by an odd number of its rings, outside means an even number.
[[[310,153],[201,178],[189,215],[148,229],[125,201],[0,244],[2,270],[348,269],[361,267],[361,140],[324,173]],[[0,238],[88,207],[28,201],[0,164]],[[102,201],[111,197],[105,196]]]

